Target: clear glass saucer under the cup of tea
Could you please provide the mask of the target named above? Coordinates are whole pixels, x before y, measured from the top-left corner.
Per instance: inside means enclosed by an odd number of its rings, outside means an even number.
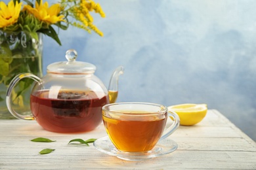
[[[165,154],[169,154],[178,148],[178,144],[171,139],[163,139],[158,141],[156,146],[148,152],[121,152],[112,144],[109,137],[102,137],[97,139],[93,145],[97,150],[111,156],[116,156],[121,160],[127,161],[141,161],[148,160],[150,158],[156,158]]]

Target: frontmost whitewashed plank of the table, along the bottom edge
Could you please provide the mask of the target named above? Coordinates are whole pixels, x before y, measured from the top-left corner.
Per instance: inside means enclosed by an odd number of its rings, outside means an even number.
[[[43,156],[36,154],[28,156],[16,153],[16,156],[1,161],[0,167],[3,169],[18,167],[24,169],[256,169],[255,161],[247,159],[255,156],[253,152],[211,151],[209,154],[207,151],[177,150],[160,158],[138,162],[119,160],[96,152],[64,154],[65,156],[54,152]]]

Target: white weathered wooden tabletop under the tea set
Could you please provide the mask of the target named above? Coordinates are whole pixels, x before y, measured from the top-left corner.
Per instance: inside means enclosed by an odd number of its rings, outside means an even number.
[[[0,120],[0,169],[256,169],[256,143],[217,110],[196,126],[180,126],[169,138],[178,149],[144,161],[125,161],[96,150],[93,144],[68,144],[71,139],[106,136],[94,131],[62,134],[45,131],[35,121]],[[46,137],[54,143],[33,143]],[[43,148],[54,148],[40,155]]]

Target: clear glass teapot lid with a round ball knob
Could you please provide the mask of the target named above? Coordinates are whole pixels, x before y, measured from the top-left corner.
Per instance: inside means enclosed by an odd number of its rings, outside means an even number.
[[[75,61],[77,52],[74,49],[66,51],[66,59],[68,61],[60,61],[51,63],[47,66],[47,72],[50,73],[70,73],[70,74],[88,74],[95,73],[96,67],[91,63]]]

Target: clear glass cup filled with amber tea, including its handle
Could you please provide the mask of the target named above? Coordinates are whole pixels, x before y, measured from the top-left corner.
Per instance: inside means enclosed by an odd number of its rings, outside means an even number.
[[[154,103],[113,103],[102,107],[103,122],[117,150],[148,152],[179,127],[179,116]],[[167,118],[173,124],[165,129]]]

